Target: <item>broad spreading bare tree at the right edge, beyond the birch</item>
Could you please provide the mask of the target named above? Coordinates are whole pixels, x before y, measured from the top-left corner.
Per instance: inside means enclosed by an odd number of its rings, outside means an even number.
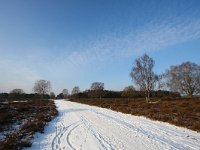
[[[192,96],[200,93],[200,66],[192,62],[171,66],[166,72],[167,84],[172,91]]]

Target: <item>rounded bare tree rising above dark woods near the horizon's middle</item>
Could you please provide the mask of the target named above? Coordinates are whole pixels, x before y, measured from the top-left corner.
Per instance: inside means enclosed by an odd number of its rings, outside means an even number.
[[[104,93],[104,83],[93,82],[89,91],[90,97],[101,98],[103,96],[103,93]]]

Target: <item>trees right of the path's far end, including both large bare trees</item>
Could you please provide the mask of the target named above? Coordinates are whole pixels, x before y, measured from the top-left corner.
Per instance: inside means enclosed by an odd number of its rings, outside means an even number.
[[[104,90],[104,83],[94,82],[89,90],[72,94],[75,98],[142,98],[146,97],[192,97],[200,94],[200,66],[192,62],[183,62],[171,66],[164,73],[156,74],[153,70],[155,61],[147,54],[135,59],[131,69],[134,86],[127,86],[123,91]]]

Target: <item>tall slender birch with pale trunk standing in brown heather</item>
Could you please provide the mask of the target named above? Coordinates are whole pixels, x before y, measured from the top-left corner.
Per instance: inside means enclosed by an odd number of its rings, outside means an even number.
[[[130,76],[140,90],[145,91],[146,101],[149,102],[150,92],[154,90],[158,76],[153,72],[153,58],[147,54],[137,58]]]

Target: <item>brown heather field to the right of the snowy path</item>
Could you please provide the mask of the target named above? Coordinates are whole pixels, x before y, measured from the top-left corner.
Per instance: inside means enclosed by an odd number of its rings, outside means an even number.
[[[73,99],[71,101],[109,108],[153,120],[169,122],[200,132],[200,97],[152,99]]]

